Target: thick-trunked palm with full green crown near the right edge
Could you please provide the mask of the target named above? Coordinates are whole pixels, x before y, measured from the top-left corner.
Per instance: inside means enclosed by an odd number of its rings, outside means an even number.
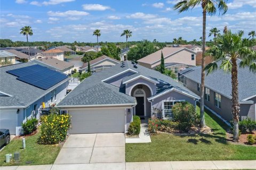
[[[206,55],[213,58],[214,62],[205,67],[207,74],[218,69],[223,69],[226,72],[231,72],[232,84],[232,114],[234,121],[234,141],[239,140],[238,123],[239,123],[239,100],[238,100],[238,77],[237,67],[249,67],[250,71],[256,73],[256,52],[250,48],[249,39],[243,39],[244,32],[238,31],[231,33],[228,30],[223,35],[218,35],[216,45],[207,50]],[[248,41],[250,43],[248,43]],[[226,57],[230,58],[226,58]],[[238,57],[241,62],[238,62]],[[254,60],[254,61],[253,61]],[[219,65],[217,64],[219,63]]]

